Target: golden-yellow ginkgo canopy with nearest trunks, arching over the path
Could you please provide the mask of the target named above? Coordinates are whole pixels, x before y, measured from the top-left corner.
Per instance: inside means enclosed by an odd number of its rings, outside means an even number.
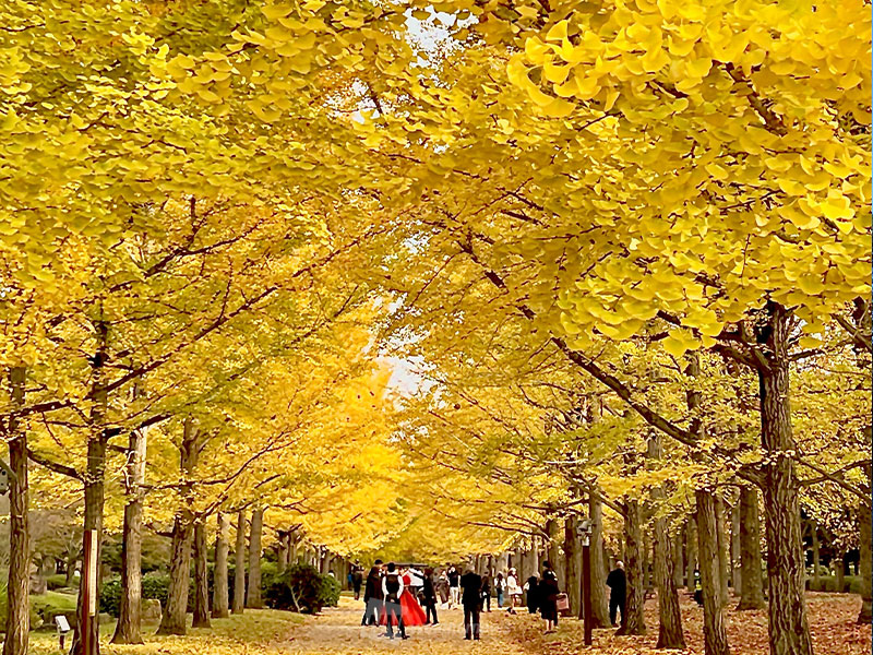
[[[0,12],[7,654],[28,458],[85,529],[154,503],[179,571],[254,497],[431,546],[400,467],[458,536],[599,498],[632,555],[654,516],[665,645],[693,509],[719,655],[717,499],[760,492],[770,651],[812,653],[801,507],[870,523],[863,2]],[[427,380],[399,440],[376,340]]]

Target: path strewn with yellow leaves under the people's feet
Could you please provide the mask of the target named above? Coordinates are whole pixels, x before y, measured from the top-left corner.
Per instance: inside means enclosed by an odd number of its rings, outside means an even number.
[[[454,655],[455,653],[500,653],[524,655],[525,651],[512,643],[510,617],[495,610],[482,615],[481,641],[464,640],[464,614],[461,609],[439,609],[438,626],[407,629],[409,639],[391,641],[380,636],[384,628],[360,624],[363,603],[343,597],[339,607],[325,609],[318,617],[307,618],[296,627],[286,643],[277,644],[287,653],[321,654],[378,654],[403,652],[407,655]]]

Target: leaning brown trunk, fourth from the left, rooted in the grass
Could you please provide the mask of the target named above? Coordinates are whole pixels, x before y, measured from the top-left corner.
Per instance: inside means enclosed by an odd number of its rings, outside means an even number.
[[[198,463],[198,430],[191,418],[186,418],[182,443],[179,448],[182,479],[181,509],[172,525],[172,552],[170,555],[170,585],[167,607],[160,617],[157,634],[184,634],[187,631],[188,586],[191,582],[191,540],[194,529],[193,483],[191,474]]]

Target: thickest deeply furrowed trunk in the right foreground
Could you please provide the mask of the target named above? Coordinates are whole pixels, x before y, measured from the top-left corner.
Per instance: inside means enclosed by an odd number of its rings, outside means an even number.
[[[806,620],[804,562],[800,528],[800,488],[792,453],[788,337],[785,308],[768,302],[769,321],[758,327],[767,366],[758,369],[761,439],[768,460],[764,468],[764,516],[767,527],[770,655],[812,655]]]

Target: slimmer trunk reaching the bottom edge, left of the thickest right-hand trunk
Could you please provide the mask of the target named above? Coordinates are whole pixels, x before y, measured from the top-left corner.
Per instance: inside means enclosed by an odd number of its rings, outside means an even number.
[[[706,655],[728,655],[728,633],[719,591],[718,528],[715,500],[708,491],[697,490],[697,545],[699,547],[701,587],[703,588],[703,639]]]

